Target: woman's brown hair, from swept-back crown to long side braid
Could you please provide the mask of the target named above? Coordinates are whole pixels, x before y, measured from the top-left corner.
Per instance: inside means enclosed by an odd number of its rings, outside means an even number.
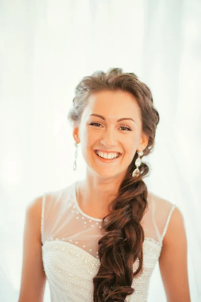
[[[69,112],[70,121],[79,122],[88,97],[98,91],[124,91],[132,94],[140,108],[142,131],[148,135],[148,145],[144,155],[154,146],[159,114],[153,107],[150,89],[134,73],[125,73],[122,68],[111,68],[108,72],[96,71],[84,77],[75,89],[73,109]],[[99,270],[93,278],[93,301],[125,301],[132,294],[133,277],[143,269],[144,231],[140,221],[147,209],[147,186],[142,180],[149,172],[147,164],[140,166],[140,175],[132,177],[135,161],[128,167],[118,196],[110,204],[110,213],[103,218],[105,235],[98,241]],[[139,266],[133,271],[133,264]]]

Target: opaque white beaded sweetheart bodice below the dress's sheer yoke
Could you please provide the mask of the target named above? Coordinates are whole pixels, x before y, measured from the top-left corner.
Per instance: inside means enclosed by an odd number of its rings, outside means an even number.
[[[149,279],[159,258],[160,245],[145,238],[143,243],[143,271],[133,279],[132,287],[144,298],[147,294]],[[96,275],[100,262],[98,258],[69,242],[52,240],[42,247],[43,265],[52,292],[59,292],[66,300],[92,301],[93,277]],[[138,261],[133,271],[138,268]],[[131,297],[130,297],[131,298]],[[132,299],[129,299],[132,301]],[[144,301],[143,299],[138,299]]]

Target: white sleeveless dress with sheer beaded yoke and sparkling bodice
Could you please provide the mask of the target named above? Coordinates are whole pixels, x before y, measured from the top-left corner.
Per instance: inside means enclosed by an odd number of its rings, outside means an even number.
[[[43,195],[41,241],[43,266],[51,302],[92,302],[93,283],[99,267],[98,240],[103,236],[102,219],[83,213],[76,200],[77,182]],[[175,205],[149,192],[143,216],[143,272],[133,279],[134,293],[127,301],[147,300],[153,269]],[[133,271],[138,267],[134,263]]]

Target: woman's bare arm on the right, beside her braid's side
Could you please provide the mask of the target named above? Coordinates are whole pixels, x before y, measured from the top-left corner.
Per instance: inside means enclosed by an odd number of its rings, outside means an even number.
[[[187,242],[181,212],[175,208],[163,240],[159,266],[167,302],[190,302]]]

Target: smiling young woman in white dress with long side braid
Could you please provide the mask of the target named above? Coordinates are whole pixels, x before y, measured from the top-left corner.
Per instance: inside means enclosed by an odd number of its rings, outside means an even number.
[[[158,260],[167,301],[189,302],[182,214],[143,181],[159,122],[149,88],[120,68],[95,72],[68,117],[86,177],[27,208],[19,302],[41,302],[46,279],[52,302],[146,301]]]

